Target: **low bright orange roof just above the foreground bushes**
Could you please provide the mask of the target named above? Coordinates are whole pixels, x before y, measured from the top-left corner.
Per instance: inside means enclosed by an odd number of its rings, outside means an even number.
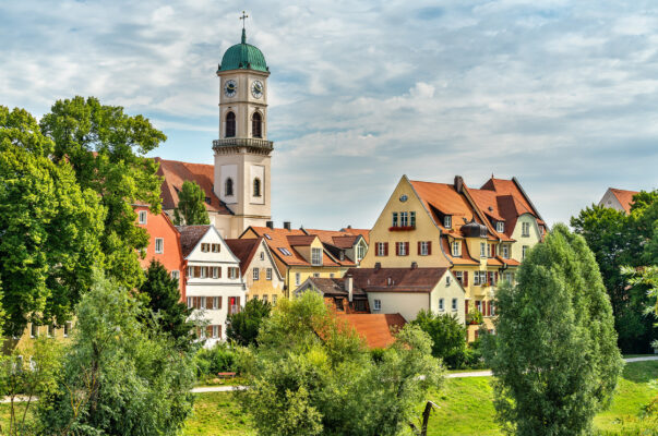
[[[399,330],[406,324],[400,314],[349,314],[336,315],[366,340],[369,348],[386,348],[395,342],[392,330]]]

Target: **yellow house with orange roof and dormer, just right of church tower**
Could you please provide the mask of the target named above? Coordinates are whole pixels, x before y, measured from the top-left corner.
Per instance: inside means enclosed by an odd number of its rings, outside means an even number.
[[[357,264],[327,250],[320,238],[303,230],[249,227],[240,239],[263,238],[284,277],[284,293],[290,296],[309,277],[340,278]]]

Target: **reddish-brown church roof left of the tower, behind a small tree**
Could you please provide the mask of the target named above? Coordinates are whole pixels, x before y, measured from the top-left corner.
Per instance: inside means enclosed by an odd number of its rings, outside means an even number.
[[[215,180],[215,167],[205,164],[190,164],[178,160],[166,160],[156,157],[155,160],[160,164],[158,175],[164,178],[160,186],[160,196],[163,198],[163,209],[170,210],[178,206],[178,193],[182,189],[186,180],[196,182],[204,191],[206,198],[205,208],[222,215],[232,215],[232,211],[224,204],[213,190]]]

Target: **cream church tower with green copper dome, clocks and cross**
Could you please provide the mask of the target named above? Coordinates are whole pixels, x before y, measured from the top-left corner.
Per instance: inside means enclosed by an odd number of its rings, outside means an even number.
[[[247,15],[242,14],[242,20]],[[270,69],[256,47],[242,41],[224,53],[219,76],[219,138],[213,141],[217,197],[234,213],[228,238],[249,226],[266,225],[271,213],[271,155],[267,141]]]

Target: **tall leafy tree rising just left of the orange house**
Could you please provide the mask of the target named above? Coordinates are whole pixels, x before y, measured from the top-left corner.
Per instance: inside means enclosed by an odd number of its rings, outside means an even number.
[[[144,277],[137,251],[148,234],[135,225],[132,205],[148,204],[159,213],[161,179],[146,154],[167,137],[144,117],[94,97],[58,100],[39,125],[53,143],[55,162],[69,162],[81,189],[93,190],[107,210],[99,233],[106,272],[127,289],[137,287]]]

